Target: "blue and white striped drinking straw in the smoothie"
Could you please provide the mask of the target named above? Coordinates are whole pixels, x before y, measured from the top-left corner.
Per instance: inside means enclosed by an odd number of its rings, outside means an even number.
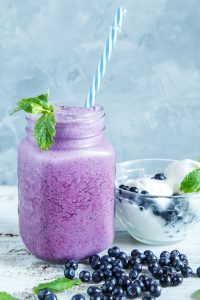
[[[110,60],[112,50],[116,44],[118,33],[121,31],[122,22],[126,13],[126,9],[119,7],[115,15],[114,22],[110,28],[110,33],[106,41],[101,59],[99,61],[96,73],[93,77],[87,99],[85,101],[85,108],[93,108],[96,96],[99,92],[100,84],[105,74],[106,66]]]

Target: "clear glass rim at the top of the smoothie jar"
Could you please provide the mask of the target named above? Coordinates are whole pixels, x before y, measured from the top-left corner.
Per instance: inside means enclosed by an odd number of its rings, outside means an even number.
[[[94,122],[96,119],[104,117],[104,108],[100,104],[96,104],[92,109],[85,109],[73,102],[51,101],[49,102],[55,107],[54,113],[57,124],[66,124],[71,122]],[[41,114],[27,114],[27,121],[35,122]]]

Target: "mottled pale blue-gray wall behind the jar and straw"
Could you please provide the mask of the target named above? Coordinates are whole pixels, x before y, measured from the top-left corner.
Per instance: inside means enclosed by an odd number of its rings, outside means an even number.
[[[199,0],[0,0],[0,184],[16,183],[22,97],[84,103],[118,5],[127,15],[101,85],[117,160],[200,154]]]

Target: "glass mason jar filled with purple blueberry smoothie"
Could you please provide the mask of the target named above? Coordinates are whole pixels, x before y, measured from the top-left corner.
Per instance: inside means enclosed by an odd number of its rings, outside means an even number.
[[[35,117],[19,145],[19,224],[25,246],[48,261],[82,259],[114,236],[115,154],[105,138],[104,111],[56,110],[54,146],[35,142]]]

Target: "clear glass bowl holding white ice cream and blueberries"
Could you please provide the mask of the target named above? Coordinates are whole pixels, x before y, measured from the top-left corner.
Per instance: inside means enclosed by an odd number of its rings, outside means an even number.
[[[116,214],[130,235],[146,244],[183,240],[200,219],[200,193],[143,195],[120,189],[128,180],[163,173],[173,160],[141,159],[117,164]]]

